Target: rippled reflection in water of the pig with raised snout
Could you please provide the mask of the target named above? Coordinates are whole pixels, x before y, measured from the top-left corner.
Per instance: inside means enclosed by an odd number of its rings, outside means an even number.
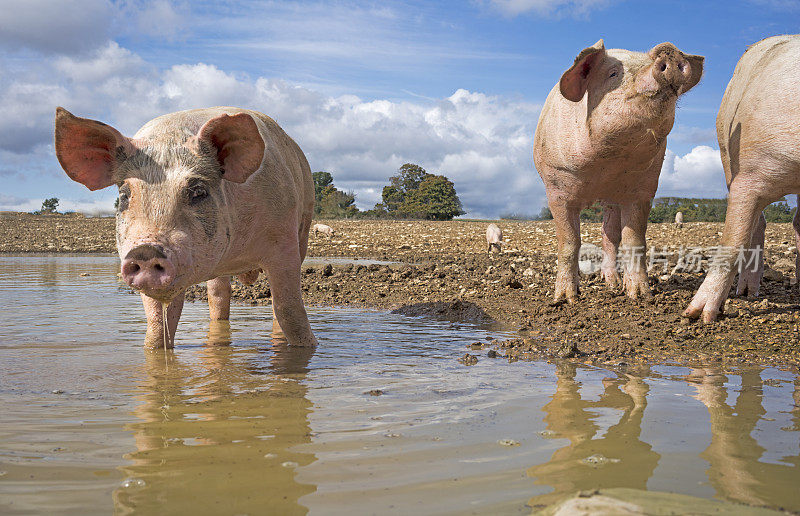
[[[603,380],[597,401],[581,396],[577,366],[561,363],[556,368],[556,392],[542,410],[547,414],[547,435],[567,439],[549,461],[533,466],[527,474],[553,492],[536,496],[531,506],[552,503],[584,489],[631,487],[645,489],[661,455],[640,439],[650,390],[640,376],[619,373]],[[603,409],[611,409],[603,410]],[[601,413],[618,413],[616,423],[602,434]]]

